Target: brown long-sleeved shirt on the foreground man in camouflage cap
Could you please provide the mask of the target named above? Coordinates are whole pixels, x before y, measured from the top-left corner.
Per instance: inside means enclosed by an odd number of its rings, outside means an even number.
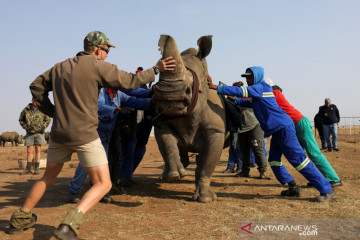
[[[30,91],[39,109],[53,117],[51,140],[81,145],[99,137],[98,95],[102,87],[134,89],[154,80],[152,68],[138,74],[127,73],[88,52],[79,52],[38,76]],[[54,104],[48,96],[50,91]]]

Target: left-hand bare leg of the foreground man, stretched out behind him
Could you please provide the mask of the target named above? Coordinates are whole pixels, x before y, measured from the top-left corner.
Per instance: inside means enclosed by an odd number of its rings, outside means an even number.
[[[44,195],[46,189],[54,183],[63,165],[64,163],[47,162],[44,176],[35,183],[25,200],[25,203],[22,207],[24,212],[30,212],[36,206],[41,197]]]

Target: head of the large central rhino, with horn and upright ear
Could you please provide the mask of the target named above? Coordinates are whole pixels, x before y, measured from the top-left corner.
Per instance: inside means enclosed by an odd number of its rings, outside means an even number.
[[[160,73],[159,82],[153,86],[156,112],[167,116],[183,116],[191,113],[198,101],[199,92],[207,92],[207,64],[212,36],[198,40],[199,50],[189,48],[180,54],[176,41],[161,35],[159,49],[162,59],[172,56],[176,60],[173,71]]]

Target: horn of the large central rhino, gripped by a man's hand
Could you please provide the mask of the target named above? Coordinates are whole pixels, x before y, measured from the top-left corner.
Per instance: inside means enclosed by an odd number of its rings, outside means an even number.
[[[185,79],[185,67],[180,52],[176,45],[176,41],[169,35],[161,35],[159,39],[159,50],[162,59],[172,56],[176,61],[176,68],[173,71],[164,71],[160,73],[161,80],[179,80]]]

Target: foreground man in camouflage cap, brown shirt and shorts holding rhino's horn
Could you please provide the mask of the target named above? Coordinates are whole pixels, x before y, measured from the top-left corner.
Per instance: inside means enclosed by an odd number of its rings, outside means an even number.
[[[54,183],[64,163],[71,160],[73,152],[93,185],[54,231],[57,239],[79,239],[77,233],[84,214],[111,189],[108,161],[97,132],[100,89],[135,89],[153,82],[159,72],[174,70],[176,65],[173,57],[168,57],[140,73],[127,73],[104,62],[110,47],[114,45],[105,34],[91,32],[84,39],[84,51],[55,64],[31,83],[30,91],[40,111],[53,117],[47,165],[22,208],[12,215],[8,233],[19,233],[35,224],[33,208]],[[54,104],[49,99],[50,91]]]

